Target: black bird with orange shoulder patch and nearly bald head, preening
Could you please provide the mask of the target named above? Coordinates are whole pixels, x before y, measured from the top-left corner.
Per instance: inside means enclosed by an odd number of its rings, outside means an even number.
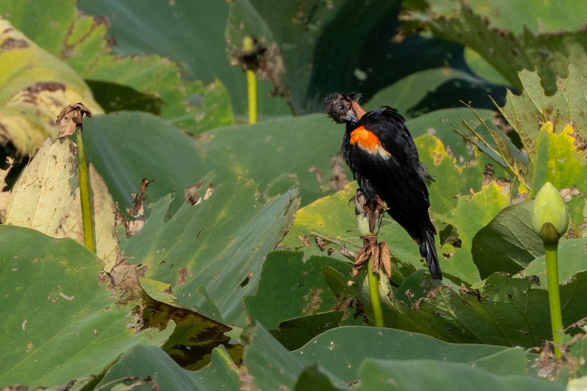
[[[367,202],[377,205],[379,196],[387,204],[387,213],[419,244],[432,278],[441,280],[436,229],[428,214],[426,185],[432,177],[402,115],[389,106],[365,113],[354,94],[330,94],[326,112],[336,123],[346,123],[342,154]]]

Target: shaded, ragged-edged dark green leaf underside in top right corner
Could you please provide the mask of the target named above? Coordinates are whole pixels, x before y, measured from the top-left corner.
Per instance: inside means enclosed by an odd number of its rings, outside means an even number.
[[[571,5],[565,4],[564,8],[576,12]],[[519,12],[525,9],[527,6],[519,4]],[[491,29],[487,19],[461,0],[445,1],[440,6],[433,0],[409,0],[404,2],[402,17],[409,21],[408,31],[424,27],[438,38],[475,50],[520,91],[524,84],[520,83],[517,72],[522,69],[537,67],[547,93],[551,94],[556,91],[557,72],[566,76],[570,61],[585,64],[587,60],[584,30],[533,35],[528,30],[514,33],[508,29]],[[521,25],[518,20],[516,24]]]

